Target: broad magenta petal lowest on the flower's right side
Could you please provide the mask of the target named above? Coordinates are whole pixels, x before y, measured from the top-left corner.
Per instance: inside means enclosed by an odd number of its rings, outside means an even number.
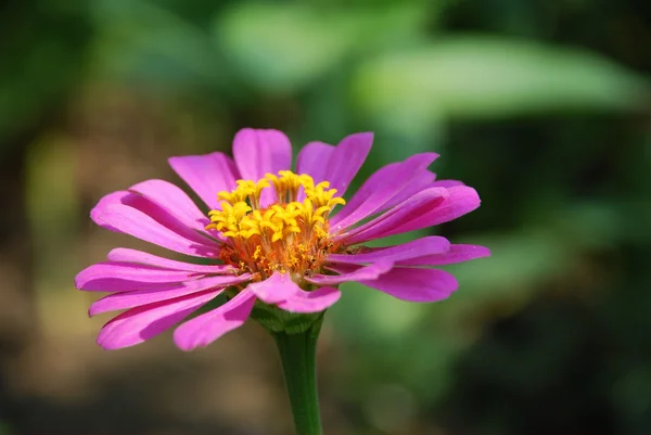
[[[350,272],[354,266],[332,268]],[[375,280],[359,281],[361,284],[409,302],[436,302],[448,297],[459,286],[451,273],[445,270],[396,267]]]

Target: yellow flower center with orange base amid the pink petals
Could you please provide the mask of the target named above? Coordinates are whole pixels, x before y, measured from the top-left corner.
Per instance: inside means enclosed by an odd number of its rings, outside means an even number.
[[[336,189],[329,188],[328,181],[315,184],[308,175],[281,170],[257,182],[238,180],[232,192],[219,192],[221,209],[208,214],[212,223],[206,229],[220,231],[231,242],[221,250],[221,260],[259,279],[289,271],[301,282],[305,274],[319,271],[336,250],[330,241],[328,215],[345,204],[334,196]],[[270,189],[277,200],[263,208],[260,196]]]

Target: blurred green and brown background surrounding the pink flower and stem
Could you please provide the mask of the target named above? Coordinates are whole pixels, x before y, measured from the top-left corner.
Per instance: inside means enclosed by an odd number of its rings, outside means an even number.
[[[245,126],[296,149],[375,132],[482,207],[433,229],[493,257],[433,305],[344,285],[327,434],[651,432],[651,3],[23,0],[0,4],[0,434],[292,433],[272,341],[94,338],[73,277],[105,193]],[[408,238],[403,238],[403,241]]]

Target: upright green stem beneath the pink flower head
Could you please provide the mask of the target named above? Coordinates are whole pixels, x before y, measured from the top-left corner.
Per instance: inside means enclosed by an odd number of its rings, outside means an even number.
[[[272,334],[280,351],[296,435],[322,434],[316,375],[316,350],[321,321],[322,318],[312,328],[297,334]]]

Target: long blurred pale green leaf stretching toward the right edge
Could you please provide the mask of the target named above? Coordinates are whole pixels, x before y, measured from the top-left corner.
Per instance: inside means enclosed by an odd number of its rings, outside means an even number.
[[[401,130],[439,118],[633,110],[649,84],[584,50],[457,36],[361,64],[352,89],[363,114]]]

